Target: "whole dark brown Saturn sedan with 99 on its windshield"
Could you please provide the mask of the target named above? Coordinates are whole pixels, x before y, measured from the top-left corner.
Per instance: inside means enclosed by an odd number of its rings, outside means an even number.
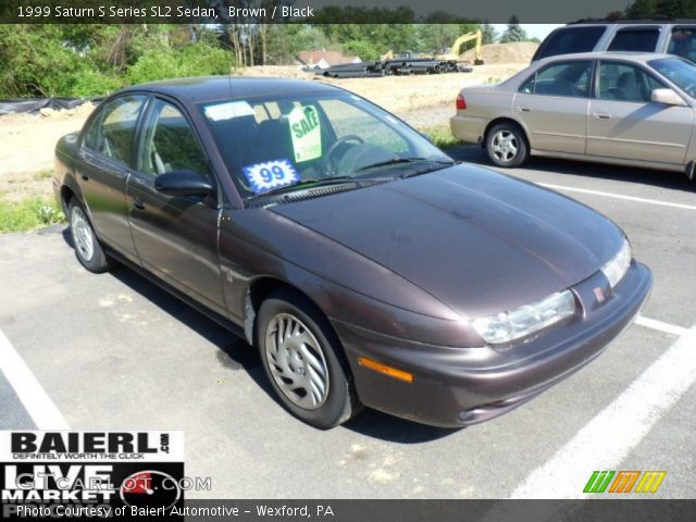
[[[246,337],[322,428],[363,405],[505,413],[597,357],[651,286],[608,219],[312,82],[122,90],[60,140],[54,188],[86,269],[126,263]]]

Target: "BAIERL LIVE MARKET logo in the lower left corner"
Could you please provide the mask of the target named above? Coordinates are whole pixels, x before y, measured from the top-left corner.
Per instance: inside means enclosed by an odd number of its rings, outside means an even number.
[[[0,431],[3,519],[183,506],[183,432]]]

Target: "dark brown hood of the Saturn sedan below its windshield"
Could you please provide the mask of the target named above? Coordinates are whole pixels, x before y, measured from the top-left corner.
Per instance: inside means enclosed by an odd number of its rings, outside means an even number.
[[[270,210],[380,263],[464,318],[568,288],[623,240],[588,207],[471,165]]]

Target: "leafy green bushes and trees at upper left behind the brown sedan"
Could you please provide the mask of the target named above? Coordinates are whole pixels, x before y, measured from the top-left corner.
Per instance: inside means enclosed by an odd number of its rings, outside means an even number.
[[[130,83],[226,74],[220,41],[186,25],[0,25],[0,97],[103,96]]]

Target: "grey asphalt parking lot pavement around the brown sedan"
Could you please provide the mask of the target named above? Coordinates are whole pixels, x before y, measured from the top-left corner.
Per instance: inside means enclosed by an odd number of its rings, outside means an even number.
[[[488,165],[475,147],[452,156]],[[443,430],[368,410],[311,428],[245,341],[128,269],[88,273],[55,226],[0,236],[0,332],[27,370],[0,373],[0,428],[50,427],[25,407],[27,375],[73,430],[184,430],[186,474],[212,478],[189,497],[581,497],[594,470],[663,470],[651,497],[693,498],[696,184],[542,159],[506,173],[614,220],[655,274],[638,324],[511,413]]]

